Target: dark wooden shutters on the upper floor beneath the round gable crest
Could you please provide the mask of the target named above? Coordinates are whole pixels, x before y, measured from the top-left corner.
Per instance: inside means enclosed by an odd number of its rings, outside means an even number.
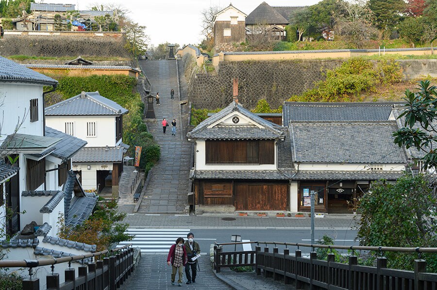
[[[206,164],[275,164],[275,141],[208,139]]]

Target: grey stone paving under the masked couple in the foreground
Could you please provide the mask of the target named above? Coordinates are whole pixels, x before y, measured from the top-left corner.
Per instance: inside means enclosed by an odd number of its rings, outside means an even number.
[[[230,290],[233,289],[214,275],[210,266],[209,255],[202,256],[199,261],[196,283],[186,285],[184,271],[183,287],[170,283],[171,267],[167,265],[167,254],[141,255],[138,267],[134,273],[121,285],[120,290]],[[176,274],[176,282],[178,275]],[[253,288],[255,289],[255,288]]]

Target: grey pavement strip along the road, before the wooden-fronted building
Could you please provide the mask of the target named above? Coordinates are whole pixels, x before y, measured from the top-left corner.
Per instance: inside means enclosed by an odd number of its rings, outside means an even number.
[[[129,209],[120,207],[120,211]],[[132,210],[130,211],[132,213]],[[226,220],[232,217],[235,220]],[[225,218],[225,220],[223,220]],[[311,227],[311,218],[304,217],[259,217],[236,215],[174,215],[174,214],[128,214],[124,219],[131,227],[144,228],[190,228],[190,229],[308,229]],[[316,229],[351,229],[355,227],[353,215],[331,215],[331,217],[316,218]]]

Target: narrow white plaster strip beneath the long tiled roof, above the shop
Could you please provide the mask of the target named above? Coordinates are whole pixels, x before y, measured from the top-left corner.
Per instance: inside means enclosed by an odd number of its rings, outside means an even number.
[[[348,163],[348,164],[338,164],[338,163],[295,163],[294,166],[303,171],[359,171],[363,172],[370,171],[369,164],[363,163]],[[403,164],[382,164],[384,171],[401,171],[405,167]]]

